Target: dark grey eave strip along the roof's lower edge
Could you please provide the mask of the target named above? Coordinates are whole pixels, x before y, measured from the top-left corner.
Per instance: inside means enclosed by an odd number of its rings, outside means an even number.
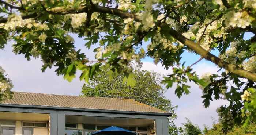
[[[107,110],[107,109],[86,109],[86,108],[73,108],[73,107],[56,107],[44,105],[23,105],[23,104],[3,104],[0,107],[11,108],[27,108],[27,109],[50,109],[59,111],[73,111],[73,112],[94,112],[94,113],[117,113],[117,114],[130,114],[130,115],[152,115],[152,116],[172,116],[172,113],[159,113],[159,112],[136,112],[136,111],[120,111],[120,110]]]

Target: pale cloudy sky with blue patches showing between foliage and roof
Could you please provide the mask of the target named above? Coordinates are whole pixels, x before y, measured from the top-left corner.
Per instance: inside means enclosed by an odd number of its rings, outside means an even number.
[[[253,34],[246,33],[245,38],[249,39]],[[75,35],[73,35],[75,36]],[[91,49],[86,49],[84,47],[85,41],[81,38],[75,38],[76,49],[81,49],[87,55],[87,58],[94,59],[95,53],[93,49],[98,47],[95,45]],[[84,82],[81,82],[79,78],[75,78],[72,82],[68,82],[63,79],[63,76],[57,76],[53,69],[47,69],[45,73],[40,71],[42,62],[39,58],[31,59],[31,61],[26,61],[23,55],[15,55],[12,53],[12,43],[8,43],[4,50],[0,50],[0,66],[2,66],[8,77],[11,78],[14,84],[14,91],[23,92],[37,92],[37,93],[50,93],[50,94],[63,94],[63,95],[79,95],[81,87]],[[143,46],[146,46],[144,43]],[[217,51],[212,51],[213,54],[218,55]],[[191,65],[197,61],[200,56],[189,52],[184,52],[182,54],[182,61],[186,61],[186,65]],[[144,70],[152,70],[161,74],[170,74],[172,70],[165,70],[161,64],[155,65],[150,57],[142,59]],[[203,73],[217,73],[219,70],[216,65],[211,62],[202,60],[197,65],[193,66],[193,69],[197,72],[199,76]],[[79,76],[79,73],[77,74]],[[193,123],[199,125],[203,128],[203,124],[212,126],[212,118],[218,120],[217,113],[215,109],[221,105],[225,105],[227,102],[225,100],[218,100],[211,102],[209,108],[204,108],[200,98],[202,96],[202,91],[197,85],[191,83],[191,93],[189,95],[184,95],[180,99],[174,94],[176,85],[170,88],[165,93],[167,99],[172,100],[173,105],[178,105],[176,111],[178,119],[175,121],[177,126],[182,126],[185,122],[185,117],[188,117]]]

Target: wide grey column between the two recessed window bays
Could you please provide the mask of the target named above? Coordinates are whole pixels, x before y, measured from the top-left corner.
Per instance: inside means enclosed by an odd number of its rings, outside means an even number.
[[[65,135],[65,125],[65,114],[50,114],[50,135]]]

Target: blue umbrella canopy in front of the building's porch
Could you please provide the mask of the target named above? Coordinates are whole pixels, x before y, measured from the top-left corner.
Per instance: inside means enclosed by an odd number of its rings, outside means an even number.
[[[136,132],[125,130],[117,126],[111,126],[90,135],[136,135]]]

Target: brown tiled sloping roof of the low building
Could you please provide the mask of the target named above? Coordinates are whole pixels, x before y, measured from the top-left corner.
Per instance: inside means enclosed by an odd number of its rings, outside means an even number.
[[[14,92],[12,99],[1,101],[0,104],[39,105],[48,107],[167,113],[160,109],[137,102],[133,99],[81,97],[27,92]]]

